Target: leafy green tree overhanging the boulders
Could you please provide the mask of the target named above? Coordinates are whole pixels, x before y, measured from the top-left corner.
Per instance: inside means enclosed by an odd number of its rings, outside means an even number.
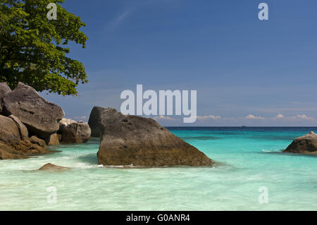
[[[66,56],[68,42],[85,48],[85,23],[63,2],[0,0],[0,82],[13,89],[20,81],[59,95],[77,95],[77,85],[88,82],[82,63]],[[46,16],[49,3],[57,6],[57,20]]]

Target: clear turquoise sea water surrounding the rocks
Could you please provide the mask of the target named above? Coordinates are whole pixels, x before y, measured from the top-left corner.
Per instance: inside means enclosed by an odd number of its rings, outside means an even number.
[[[317,157],[281,152],[317,128],[169,129],[218,166],[108,168],[98,140],[51,147],[62,152],[0,161],[0,210],[317,210]]]

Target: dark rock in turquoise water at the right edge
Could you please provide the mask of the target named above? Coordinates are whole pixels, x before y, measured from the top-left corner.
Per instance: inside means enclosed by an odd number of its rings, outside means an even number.
[[[283,152],[317,154],[317,134],[311,131],[302,137],[295,138],[292,144],[290,144]]]

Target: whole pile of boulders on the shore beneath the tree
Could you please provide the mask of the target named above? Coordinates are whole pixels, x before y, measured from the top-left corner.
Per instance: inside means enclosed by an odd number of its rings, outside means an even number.
[[[25,159],[50,152],[46,145],[86,142],[88,123],[64,119],[63,109],[23,83],[0,83],[0,159]]]

